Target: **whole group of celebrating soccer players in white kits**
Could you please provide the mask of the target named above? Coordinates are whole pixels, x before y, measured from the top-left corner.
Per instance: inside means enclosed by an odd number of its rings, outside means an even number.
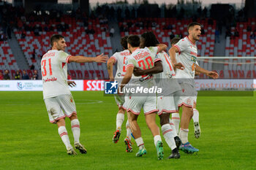
[[[109,60],[108,56],[103,54],[94,58],[69,55],[64,52],[67,47],[64,37],[52,36],[50,39],[52,50],[45,53],[41,61],[43,96],[50,123],[58,125],[59,135],[67,148],[67,153],[77,154],[69,142],[65,117],[71,120],[74,147],[81,153],[87,152],[79,140],[80,123],[76,114],[75,101],[68,88],[68,85],[73,86],[75,82],[67,81],[67,63],[106,62],[107,60],[110,81],[118,82],[118,95],[115,96],[118,114],[113,142],[117,143],[119,140],[124,114],[127,112],[127,136],[124,139],[126,151],[132,152],[131,139],[133,137],[139,147],[136,156],[146,154],[137,122],[140,110],[143,108],[146,124],[154,136],[159,160],[164,158],[164,150],[156,115],[159,115],[162,134],[171,150],[168,158],[180,158],[179,149],[184,152],[198,152],[188,141],[191,118],[194,120],[195,136],[197,138],[200,136],[199,113],[195,109],[197,95],[194,82],[195,72],[206,74],[214,79],[218,77],[216,72],[209,72],[197,64],[195,42],[200,39],[200,29],[199,23],[190,23],[188,36],[171,41],[172,47],[168,50],[170,57],[165,53],[167,46],[160,44],[153,32],[145,32],[140,37],[124,36],[121,39],[124,50],[115,53]],[[113,77],[113,64],[115,63],[117,63],[117,72]],[[122,93],[124,88],[135,88],[136,85],[140,88],[157,87],[162,91],[140,94]],[[178,128],[179,107],[182,107],[181,128]],[[170,120],[171,113],[173,114],[172,120]]]

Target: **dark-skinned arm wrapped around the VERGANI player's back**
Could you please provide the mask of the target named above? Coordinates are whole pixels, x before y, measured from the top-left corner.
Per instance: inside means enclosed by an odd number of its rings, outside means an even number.
[[[154,63],[154,67],[151,69],[142,70],[140,68],[135,68],[133,74],[135,74],[135,76],[141,76],[145,74],[157,74],[160,72],[163,72],[162,61],[157,61],[156,63]]]

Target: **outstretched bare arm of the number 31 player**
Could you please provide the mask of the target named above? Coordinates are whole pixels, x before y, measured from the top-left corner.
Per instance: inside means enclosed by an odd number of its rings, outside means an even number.
[[[70,56],[69,57],[69,63],[75,62],[75,63],[89,63],[89,62],[97,62],[97,63],[106,63],[108,60],[108,55],[97,55],[97,57],[85,57],[81,55],[77,56]]]

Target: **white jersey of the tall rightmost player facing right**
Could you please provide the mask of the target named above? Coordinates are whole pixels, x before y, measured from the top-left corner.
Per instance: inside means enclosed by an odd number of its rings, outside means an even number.
[[[184,39],[179,40],[174,47],[178,48],[178,55],[176,55],[177,62],[181,62],[184,65],[184,70],[176,70],[176,77],[194,79],[195,62],[197,61],[197,46],[189,40],[188,36],[186,36]]]

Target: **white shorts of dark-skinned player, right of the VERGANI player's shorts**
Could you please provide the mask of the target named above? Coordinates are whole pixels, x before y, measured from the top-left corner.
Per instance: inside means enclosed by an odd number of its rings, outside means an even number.
[[[180,101],[182,92],[181,90],[176,91],[168,96],[157,97],[157,109],[158,115],[165,113],[178,112],[178,102]]]

